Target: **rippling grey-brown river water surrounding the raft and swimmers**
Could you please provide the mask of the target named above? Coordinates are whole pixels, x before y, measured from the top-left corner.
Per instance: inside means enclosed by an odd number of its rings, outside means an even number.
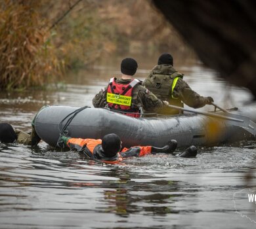
[[[102,60],[72,73],[58,90],[1,92],[0,122],[30,131],[43,105],[92,105],[108,79],[119,75],[118,60]],[[202,63],[175,67],[203,96],[223,107],[240,107],[249,92],[229,86]],[[139,62],[144,79],[154,62]],[[205,110],[213,110],[206,106]],[[255,141],[199,148],[196,158],[166,154],[130,158],[110,166],[77,152],[0,145],[0,228],[255,228]],[[247,179],[245,179],[247,177]]]

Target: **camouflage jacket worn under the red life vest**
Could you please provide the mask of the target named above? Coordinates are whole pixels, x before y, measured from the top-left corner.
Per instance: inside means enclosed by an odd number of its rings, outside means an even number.
[[[119,84],[129,84],[131,80],[124,80],[124,79],[116,79],[116,82]],[[93,98],[93,106],[94,107],[106,107],[106,92],[108,86],[101,90],[96,94]],[[158,109],[165,107],[164,103],[158,99],[152,92],[147,90],[141,84],[137,84],[133,88],[133,95],[131,100],[131,108],[141,107],[144,112],[155,112]]]

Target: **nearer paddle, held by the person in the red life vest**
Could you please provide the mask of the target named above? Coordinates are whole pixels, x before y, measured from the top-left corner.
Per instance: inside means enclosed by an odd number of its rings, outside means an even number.
[[[250,120],[247,116],[242,116],[242,115],[235,115],[229,112],[226,112],[226,115],[218,115],[218,114],[213,114],[209,112],[204,112],[204,111],[194,111],[191,109],[186,109],[183,107],[177,107],[174,105],[168,105],[168,107],[171,107],[173,109],[177,109],[179,111],[186,111],[190,113],[195,113],[199,115],[205,115],[205,116],[210,116],[213,118],[222,118],[224,120],[229,120],[230,124],[233,126],[240,126],[241,128],[244,128],[247,132],[251,133],[253,136],[256,135],[256,124],[252,120]]]

